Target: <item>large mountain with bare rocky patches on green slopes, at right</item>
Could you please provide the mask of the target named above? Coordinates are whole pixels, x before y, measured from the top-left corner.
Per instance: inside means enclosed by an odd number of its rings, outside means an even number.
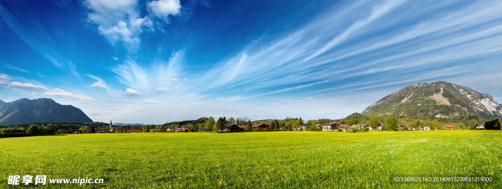
[[[366,107],[363,115],[488,120],[502,117],[502,104],[488,94],[445,81],[415,83]]]

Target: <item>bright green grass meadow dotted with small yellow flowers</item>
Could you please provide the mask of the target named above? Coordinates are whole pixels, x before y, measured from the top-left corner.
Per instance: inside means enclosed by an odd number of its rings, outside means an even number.
[[[58,134],[0,139],[9,175],[40,188],[501,188],[502,131]],[[390,174],[472,174],[476,183],[397,184]],[[56,184],[49,178],[103,178]]]

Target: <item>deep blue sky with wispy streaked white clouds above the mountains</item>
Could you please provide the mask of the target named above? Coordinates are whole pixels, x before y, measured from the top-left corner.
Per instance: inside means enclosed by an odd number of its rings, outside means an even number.
[[[502,1],[0,1],[0,99],[94,121],[342,118],[444,80],[502,101]]]

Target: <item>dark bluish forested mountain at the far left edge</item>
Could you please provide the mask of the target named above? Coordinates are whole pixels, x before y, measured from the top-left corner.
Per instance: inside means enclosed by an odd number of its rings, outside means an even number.
[[[0,125],[31,122],[93,122],[82,110],[51,98],[0,100]]]

